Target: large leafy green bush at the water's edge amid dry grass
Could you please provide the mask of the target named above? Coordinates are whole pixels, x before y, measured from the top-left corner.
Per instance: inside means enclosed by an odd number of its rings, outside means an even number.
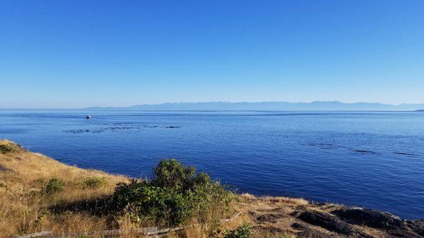
[[[112,208],[130,211],[140,220],[158,225],[184,224],[196,217],[205,219],[212,211],[229,208],[233,194],[206,173],[196,173],[177,160],[162,160],[151,181],[121,183],[112,196]]]

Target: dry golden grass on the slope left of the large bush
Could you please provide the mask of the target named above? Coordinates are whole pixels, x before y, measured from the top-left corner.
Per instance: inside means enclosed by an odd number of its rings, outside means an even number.
[[[52,214],[49,208],[112,194],[114,186],[126,181],[126,177],[64,165],[45,155],[23,150],[10,141],[0,141],[0,145],[13,148],[11,153],[0,153],[0,237],[45,230],[58,234],[88,232],[107,227],[106,218],[88,212]],[[43,193],[52,178],[63,180],[64,191]],[[87,178],[105,182],[87,187],[84,184]]]

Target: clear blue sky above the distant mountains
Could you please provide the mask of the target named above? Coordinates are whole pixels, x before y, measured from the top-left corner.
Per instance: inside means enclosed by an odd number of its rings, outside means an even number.
[[[424,1],[0,1],[0,107],[424,102]]]

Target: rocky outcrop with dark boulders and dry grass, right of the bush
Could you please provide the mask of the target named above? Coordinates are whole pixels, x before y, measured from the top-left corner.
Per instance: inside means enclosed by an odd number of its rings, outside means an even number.
[[[300,198],[242,196],[257,234],[297,238],[424,238],[424,220]]]

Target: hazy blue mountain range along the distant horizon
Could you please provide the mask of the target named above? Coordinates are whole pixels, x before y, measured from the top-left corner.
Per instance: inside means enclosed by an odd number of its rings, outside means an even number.
[[[89,110],[182,111],[424,111],[424,104],[389,105],[377,102],[167,102],[130,107],[88,107]]]

